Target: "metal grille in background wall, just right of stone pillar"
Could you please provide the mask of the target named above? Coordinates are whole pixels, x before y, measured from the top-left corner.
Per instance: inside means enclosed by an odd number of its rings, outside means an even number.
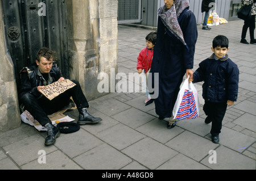
[[[118,23],[137,23],[141,20],[141,0],[118,1]]]

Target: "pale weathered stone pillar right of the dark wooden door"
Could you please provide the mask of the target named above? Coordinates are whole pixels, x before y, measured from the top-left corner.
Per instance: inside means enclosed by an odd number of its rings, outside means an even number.
[[[79,80],[88,100],[104,95],[97,91],[98,74],[117,69],[117,7],[117,0],[67,3],[67,27],[73,27],[67,30],[69,74]]]

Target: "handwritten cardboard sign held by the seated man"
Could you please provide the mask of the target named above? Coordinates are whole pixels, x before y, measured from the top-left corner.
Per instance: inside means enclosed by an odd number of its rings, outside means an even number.
[[[46,96],[49,100],[52,100],[56,96],[65,92],[68,89],[71,89],[76,84],[69,79],[65,79],[64,81],[56,81],[41,89],[40,92]]]

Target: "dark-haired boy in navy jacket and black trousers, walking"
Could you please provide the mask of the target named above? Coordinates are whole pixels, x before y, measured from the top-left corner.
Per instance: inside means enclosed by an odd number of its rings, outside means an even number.
[[[199,64],[199,68],[193,73],[189,82],[201,82],[203,84],[203,98],[205,104],[203,110],[207,118],[205,123],[212,122],[212,142],[220,141],[222,120],[227,105],[232,106],[237,100],[239,70],[237,65],[230,60],[228,54],[229,40],[219,35],[213,39],[212,56]]]

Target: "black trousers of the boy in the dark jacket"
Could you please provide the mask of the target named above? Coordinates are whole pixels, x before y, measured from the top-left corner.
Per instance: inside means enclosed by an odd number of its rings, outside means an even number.
[[[204,103],[203,110],[205,115],[209,116],[210,120],[212,120],[212,129],[210,130],[210,134],[212,134],[212,136],[218,136],[221,132],[222,120],[226,113],[226,107],[226,102],[211,103],[205,101]]]

